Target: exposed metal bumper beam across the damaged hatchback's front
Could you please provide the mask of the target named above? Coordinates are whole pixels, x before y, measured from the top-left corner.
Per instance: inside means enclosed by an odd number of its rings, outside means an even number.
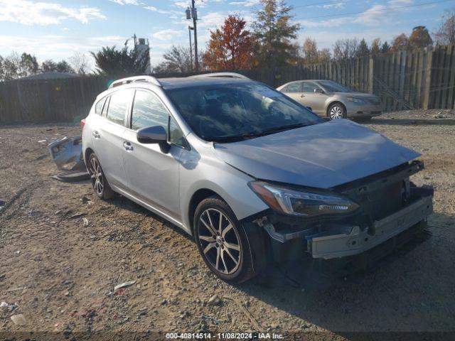
[[[361,254],[405,231],[418,228],[433,212],[432,187],[412,187],[412,200],[386,217],[370,222],[368,227],[353,222],[326,221],[323,229],[276,229],[267,218],[256,220],[272,239],[275,259],[294,259],[306,252],[315,259],[335,259]],[[299,251],[300,250],[300,251]]]

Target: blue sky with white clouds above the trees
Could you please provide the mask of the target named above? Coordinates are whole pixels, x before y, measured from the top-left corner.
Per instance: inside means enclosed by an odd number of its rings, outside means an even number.
[[[410,34],[412,27],[424,25],[434,31],[444,9],[455,0],[424,6],[435,0],[288,0],[294,21],[301,24],[299,42],[315,38],[319,48],[332,48],[340,38],[391,40]],[[188,45],[186,0],[0,0],[0,55],[15,50],[36,55],[39,61],[69,58],[75,52],[88,53],[101,46],[122,46],[134,33],[149,38],[151,63],[172,44]],[[247,22],[255,18],[259,0],[196,1],[198,40],[205,46],[210,29],[220,26],[230,13]],[[410,6],[396,9],[397,7]],[[395,8],[382,11],[383,9]],[[346,15],[351,12],[362,12]],[[315,18],[317,17],[317,18]]]

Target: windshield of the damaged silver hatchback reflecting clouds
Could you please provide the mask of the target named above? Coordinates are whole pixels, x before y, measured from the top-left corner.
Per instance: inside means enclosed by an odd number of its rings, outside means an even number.
[[[281,92],[257,83],[167,93],[191,129],[206,141],[239,141],[323,122]]]

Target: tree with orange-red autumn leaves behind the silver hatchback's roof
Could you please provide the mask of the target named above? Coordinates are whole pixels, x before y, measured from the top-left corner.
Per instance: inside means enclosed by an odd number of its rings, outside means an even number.
[[[203,63],[212,71],[242,70],[252,66],[254,40],[240,16],[228,16],[221,28],[210,31]]]

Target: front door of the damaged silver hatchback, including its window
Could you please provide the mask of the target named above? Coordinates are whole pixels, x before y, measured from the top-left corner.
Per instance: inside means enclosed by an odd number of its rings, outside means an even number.
[[[136,90],[129,128],[123,135],[123,163],[130,192],[161,212],[180,220],[178,195],[179,157],[183,151],[170,145],[162,150],[158,144],[141,144],[137,130],[169,124],[169,112],[158,96],[149,90]]]

